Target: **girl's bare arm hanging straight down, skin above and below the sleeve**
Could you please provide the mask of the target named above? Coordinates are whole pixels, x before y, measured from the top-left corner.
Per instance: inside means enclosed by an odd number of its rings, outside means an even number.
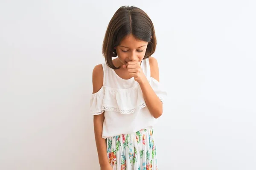
[[[93,94],[98,92],[103,86],[103,68],[102,65],[96,65],[93,69]],[[107,146],[105,139],[102,138],[102,127],[104,121],[104,113],[93,116],[95,142],[98,151],[99,164],[101,167],[109,166],[107,157]]]

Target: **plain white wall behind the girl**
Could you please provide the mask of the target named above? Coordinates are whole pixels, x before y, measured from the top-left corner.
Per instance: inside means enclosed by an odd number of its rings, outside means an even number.
[[[253,0],[1,0],[0,170],[99,170],[92,70],[123,5],[156,30],[159,169],[255,170]]]

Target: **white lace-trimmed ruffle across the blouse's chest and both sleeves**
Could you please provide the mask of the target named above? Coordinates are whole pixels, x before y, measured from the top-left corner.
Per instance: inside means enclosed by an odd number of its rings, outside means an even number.
[[[153,77],[150,78],[149,84],[157,94],[159,99],[164,103],[167,96],[166,91]],[[140,85],[128,89],[102,88],[95,94],[91,95],[90,112],[93,115],[99,115],[104,111],[115,111],[121,114],[131,114],[138,109],[146,106]]]

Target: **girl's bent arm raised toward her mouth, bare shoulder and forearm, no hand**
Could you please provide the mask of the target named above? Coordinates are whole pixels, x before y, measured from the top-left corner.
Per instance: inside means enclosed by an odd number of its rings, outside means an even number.
[[[159,82],[159,68],[157,59],[149,57],[149,64],[151,77],[153,77]],[[141,81],[139,82],[139,84],[143,92],[143,97],[145,99],[148,110],[150,111],[152,116],[154,116],[154,118],[157,119],[163,113],[163,103],[161,102],[157,94],[154,92],[154,90],[151,88],[151,85],[149,84],[148,81]]]

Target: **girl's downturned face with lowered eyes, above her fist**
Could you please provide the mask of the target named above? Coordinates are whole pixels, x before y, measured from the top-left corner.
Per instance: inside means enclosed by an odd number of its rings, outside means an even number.
[[[133,35],[129,34],[116,46],[116,53],[124,65],[129,61],[141,62],[145,56],[147,45],[148,42],[136,40]]]

